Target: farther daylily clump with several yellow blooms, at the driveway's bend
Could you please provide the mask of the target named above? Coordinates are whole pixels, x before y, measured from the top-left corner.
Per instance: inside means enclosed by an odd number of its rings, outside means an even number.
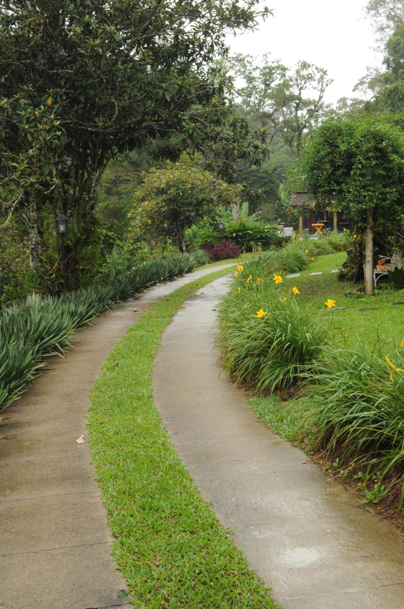
[[[237,382],[267,393],[307,379],[321,356],[324,320],[301,311],[300,295],[285,292],[282,284],[313,255],[341,250],[345,243],[335,236],[297,239],[240,265],[220,308],[219,339],[224,365]]]

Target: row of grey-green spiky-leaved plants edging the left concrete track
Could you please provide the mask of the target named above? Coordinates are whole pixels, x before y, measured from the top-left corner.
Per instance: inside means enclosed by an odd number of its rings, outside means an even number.
[[[0,412],[10,406],[24,385],[45,365],[44,359],[63,353],[69,335],[117,301],[161,281],[169,281],[209,262],[206,252],[169,254],[103,284],[61,297],[32,294],[0,312]]]

